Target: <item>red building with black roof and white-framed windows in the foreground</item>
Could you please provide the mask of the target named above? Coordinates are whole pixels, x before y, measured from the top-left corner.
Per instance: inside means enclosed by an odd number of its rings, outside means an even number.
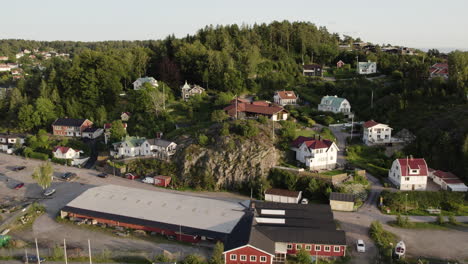
[[[241,220],[225,243],[225,264],[283,264],[305,249],[311,256],[345,255],[346,234],[336,230],[329,205],[250,203],[252,218]]]

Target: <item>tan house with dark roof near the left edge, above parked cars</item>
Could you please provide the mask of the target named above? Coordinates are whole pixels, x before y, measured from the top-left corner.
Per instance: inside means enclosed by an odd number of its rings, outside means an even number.
[[[57,118],[52,123],[52,131],[54,136],[82,137],[83,131],[92,125],[88,119]]]

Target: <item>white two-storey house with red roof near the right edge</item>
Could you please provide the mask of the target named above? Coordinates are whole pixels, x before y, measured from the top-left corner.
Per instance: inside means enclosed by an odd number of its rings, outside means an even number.
[[[426,190],[429,169],[424,159],[406,158],[393,161],[388,178],[400,190]]]

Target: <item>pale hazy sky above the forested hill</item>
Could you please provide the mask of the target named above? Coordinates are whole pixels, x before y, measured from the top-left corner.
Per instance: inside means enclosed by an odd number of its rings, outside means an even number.
[[[376,44],[468,49],[468,0],[0,0],[0,10],[0,39],[160,39],[287,19]]]

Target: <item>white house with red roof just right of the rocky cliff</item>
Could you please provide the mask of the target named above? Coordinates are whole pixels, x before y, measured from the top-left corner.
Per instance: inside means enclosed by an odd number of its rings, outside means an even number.
[[[296,151],[296,160],[305,163],[310,170],[334,169],[338,157],[338,146],[327,139],[298,137],[291,144]]]

